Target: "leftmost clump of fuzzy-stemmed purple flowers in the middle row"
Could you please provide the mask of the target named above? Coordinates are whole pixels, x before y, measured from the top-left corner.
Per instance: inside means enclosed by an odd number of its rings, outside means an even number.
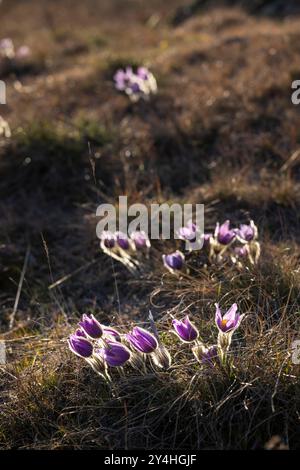
[[[124,264],[129,271],[135,272],[142,257],[148,257],[151,243],[143,231],[132,232],[130,237],[123,232],[104,231],[101,234],[100,247],[104,253]]]

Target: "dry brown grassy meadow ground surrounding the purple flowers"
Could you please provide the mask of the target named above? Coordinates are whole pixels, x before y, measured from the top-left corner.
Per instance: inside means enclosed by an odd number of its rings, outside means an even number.
[[[0,447],[299,448],[297,2],[4,0],[0,10],[1,36],[32,49],[0,77],[12,129],[0,140]],[[114,89],[127,64],[157,77],[150,102]],[[161,262],[176,242],[155,242],[132,276],[95,233],[97,206],[122,194],[204,203],[206,231],[254,219],[258,265],[203,267],[193,253],[179,280]],[[217,301],[246,314],[230,374],[200,368],[168,331],[170,313],[188,308],[212,341]],[[149,309],[169,371],[126,369],[107,387],[67,348],[84,312],[125,331]]]

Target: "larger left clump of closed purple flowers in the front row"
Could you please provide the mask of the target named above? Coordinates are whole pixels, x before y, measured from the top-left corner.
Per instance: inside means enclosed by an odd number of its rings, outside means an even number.
[[[69,348],[106,380],[110,380],[109,367],[130,364],[146,370],[148,356],[157,367],[168,369],[171,365],[168,350],[158,337],[144,328],[135,326],[128,333],[120,334],[116,329],[99,323],[94,315],[86,314],[78,326],[69,337]]]

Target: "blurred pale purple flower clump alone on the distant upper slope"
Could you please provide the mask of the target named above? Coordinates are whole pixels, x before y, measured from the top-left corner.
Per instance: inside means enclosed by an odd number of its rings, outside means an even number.
[[[148,99],[157,92],[157,83],[154,75],[146,67],[138,67],[136,72],[132,67],[119,69],[114,75],[115,87],[129,96],[131,101],[140,98]]]

